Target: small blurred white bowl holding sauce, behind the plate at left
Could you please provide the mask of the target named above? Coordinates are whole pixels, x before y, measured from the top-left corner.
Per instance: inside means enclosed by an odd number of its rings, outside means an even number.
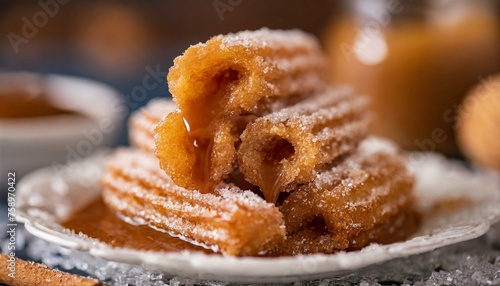
[[[20,179],[36,168],[51,165],[54,170],[64,173],[68,161],[80,161],[116,143],[125,118],[123,101],[116,90],[76,77],[0,73],[0,96],[6,91],[29,91],[40,87],[58,107],[83,116],[0,118],[2,186],[6,186],[8,172],[16,172],[16,178]]]

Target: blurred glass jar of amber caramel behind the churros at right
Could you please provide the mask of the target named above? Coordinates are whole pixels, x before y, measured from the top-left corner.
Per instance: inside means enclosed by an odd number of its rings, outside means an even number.
[[[350,0],[326,35],[335,83],[369,95],[373,131],[457,155],[466,92],[500,66],[496,0]]]

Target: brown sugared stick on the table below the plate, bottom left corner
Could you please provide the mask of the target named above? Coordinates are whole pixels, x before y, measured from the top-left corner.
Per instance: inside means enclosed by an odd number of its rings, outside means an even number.
[[[96,279],[73,275],[49,268],[47,265],[15,258],[15,277],[9,276],[9,256],[0,253],[0,283],[11,286],[47,285],[47,286],[97,286],[102,285]]]

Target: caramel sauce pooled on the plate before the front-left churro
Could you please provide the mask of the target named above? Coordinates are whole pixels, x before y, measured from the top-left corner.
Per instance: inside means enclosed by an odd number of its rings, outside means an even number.
[[[74,213],[62,225],[112,247],[158,252],[188,250],[214,253],[147,225],[129,224],[110,211],[102,198]]]

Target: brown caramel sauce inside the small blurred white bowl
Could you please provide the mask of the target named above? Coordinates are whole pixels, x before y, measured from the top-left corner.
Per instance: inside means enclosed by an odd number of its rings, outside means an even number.
[[[74,111],[57,107],[44,95],[30,95],[18,91],[0,94],[0,118],[35,118],[75,114]]]

